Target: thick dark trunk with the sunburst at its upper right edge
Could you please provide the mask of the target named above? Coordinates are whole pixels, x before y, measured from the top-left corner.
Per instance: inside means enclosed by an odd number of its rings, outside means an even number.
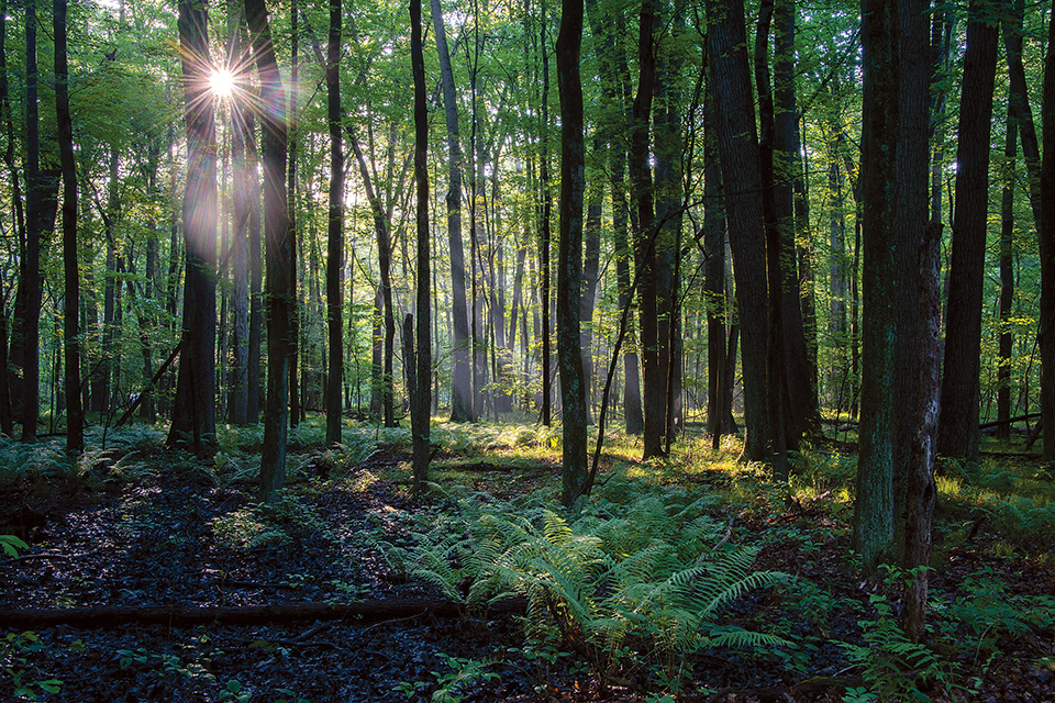
[[[168,444],[200,456],[216,448],[216,127],[209,87],[209,13],[179,2],[180,65],[187,123],[187,186],[182,220],[186,246],[184,323],[176,400]]]

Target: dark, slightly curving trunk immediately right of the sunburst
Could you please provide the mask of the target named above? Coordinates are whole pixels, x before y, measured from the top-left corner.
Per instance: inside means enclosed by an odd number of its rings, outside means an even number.
[[[278,72],[275,45],[264,0],[245,0],[253,53],[264,104],[285,105],[286,89]],[[287,124],[282,110],[260,113],[264,125],[264,239],[267,245],[267,399],[264,447],[260,453],[260,500],[274,503],[286,483],[286,438],[289,414],[289,355],[296,312],[292,233],[287,219]]]

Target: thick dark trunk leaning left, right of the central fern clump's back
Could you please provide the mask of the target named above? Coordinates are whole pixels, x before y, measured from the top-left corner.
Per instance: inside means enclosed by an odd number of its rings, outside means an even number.
[[[766,241],[743,2],[710,0],[707,14],[712,22],[707,33],[711,94],[743,336],[744,458],[762,460],[771,440],[766,412]]]

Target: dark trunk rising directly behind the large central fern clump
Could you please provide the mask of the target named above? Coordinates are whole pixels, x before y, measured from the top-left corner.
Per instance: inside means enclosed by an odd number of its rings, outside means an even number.
[[[571,507],[587,479],[586,383],[579,347],[579,291],[582,279],[582,204],[586,148],[582,135],[582,83],[579,47],[582,0],[564,0],[557,36],[560,93],[560,233],[557,247],[557,356],[560,365],[564,424],[560,501]]]

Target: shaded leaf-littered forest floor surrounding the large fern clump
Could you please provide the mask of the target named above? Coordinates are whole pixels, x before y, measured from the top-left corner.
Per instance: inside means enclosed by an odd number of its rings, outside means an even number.
[[[371,431],[367,444],[343,453],[307,442],[293,447],[288,500],[274,509],[255,502],[252,437],[232,440],[210,464],[162,448],[160,435],[145,429],[111,438],[76,466],[47,458],[46,447],[20,455],[27,468],[0,484],[0,534],[18,534],[30,549],[0,556],[0,701],[1055,701],[1050,535],[1019,538],[1002,532],[996,507],[964,495],[943,501],[924,650],[932,658],[920,657],[885,627],[896,579],[857,572],[845,488],[852,460],[834,454],[818,454],[828,458],[813,460],[790,503],[771,500],[763,471],[701,445],[643,465],[623,439],[606,457],[604,478],[618,475],[624,488],[721,496],[711,517],[728,525],[722,543],[754,545],[754,568],[792,577],[735,599],[723,625],[779,636],[787,647],[703,647],[675,662],[670,683],[670,651],[648,638],[628,637],[604,659],[566,629],[526,638],[515,609],[414,611],[415,600],[444,594],[393,566],[390,549],[456,510],[455,489],[487,490],[488,500],[557,490],[555,435],[518,433],[508,442],[496,428],[486,442],[444,446],[433,471],[443,490],[420,501],[407,484],[406,431]],[[375,600],[411,610],[388,620],[237,617],[241,606]],[[112,606],[229,610],[207,624],[149,624]],[[27,609],[98,620],[14,624],[12,613]],[[870,659],[854,658],[866,648]],[[591,652],[609,663],[590,666]]]

